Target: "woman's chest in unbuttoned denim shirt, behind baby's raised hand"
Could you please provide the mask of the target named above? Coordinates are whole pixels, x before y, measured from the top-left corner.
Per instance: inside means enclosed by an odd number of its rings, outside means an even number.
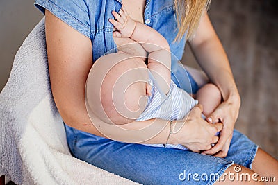
[[[111,12],[113,10],[118,12],[121,3],[124,4],[132,19],[140,21],[161,33],[167,39],[172,53],[178,59],[181,59],[185,39],[174,42],[178,29],[174,17],[173,2],[174,0],[90,0],[88,4],[90,24],[88,25],[91,32],[93,60],[97,60],[105,53],[115,53],[116,48],[118,51],[124,51],[131,55],[146,55],[142,46],[132,39],[112,36],[113,25],[108,19],[113,19]]]

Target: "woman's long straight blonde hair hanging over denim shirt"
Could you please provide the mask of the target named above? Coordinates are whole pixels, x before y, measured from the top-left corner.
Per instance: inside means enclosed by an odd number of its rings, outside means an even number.
[[[174,10],[179,33],[174,41],[186,34],[186,39],[192,39],[199,25],[204,10],[208,10],[211,0],[174,0]]]

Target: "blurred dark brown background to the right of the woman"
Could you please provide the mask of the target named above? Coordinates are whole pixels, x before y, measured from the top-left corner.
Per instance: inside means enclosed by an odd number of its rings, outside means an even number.
[[[236,129],[278,159],[278,1],[212,0],[208,15],[227,52],[241,107]],[[184,64],[197,67],[186,46]]]

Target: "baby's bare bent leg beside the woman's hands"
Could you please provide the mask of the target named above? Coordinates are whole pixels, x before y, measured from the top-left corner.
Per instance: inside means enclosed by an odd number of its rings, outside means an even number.
[[[203,114],[209,116],[221,103],[221,93],[216,85],[208,83],[201,87],[195,98],[203,105]]]

